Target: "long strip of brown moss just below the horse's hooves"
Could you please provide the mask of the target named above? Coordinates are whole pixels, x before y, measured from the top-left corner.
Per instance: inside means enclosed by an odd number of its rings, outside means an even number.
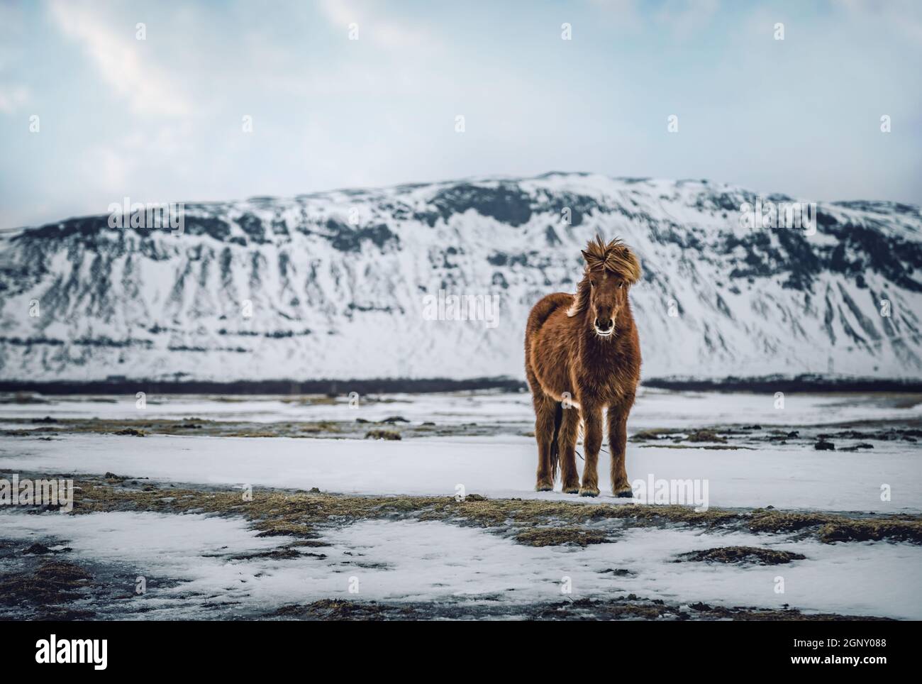
[[[108,474],[112,475],[112,474]],[[511,530],[548,527],[565,529],[593,521],[621,520],[623,525],[685,524],[704,528],[748,528],[751,532],[803,531],[824,542],[894,540],[922,544],[922,518],[916,515],[853,518],[835,513],[752,512],[688,506],[577,503],[539,499],[487,499],[472,494],[454,497],[346,496],[323,492],[256,489],[252,501],[242,490],[227,491],[155,486],[115,476],[77,479],[74,513],[152,511],[156,513],[216,513],[242,515],[262,537],[318,537],[317,528],[380,518],[439,520]],[[561,532],[559,535],[565,536]],[[523,537],[527,539],[526,535]],[[521,543],[526,543],[525,541]]]

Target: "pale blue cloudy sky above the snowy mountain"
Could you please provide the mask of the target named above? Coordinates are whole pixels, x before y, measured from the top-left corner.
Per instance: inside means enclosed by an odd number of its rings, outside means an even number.
[[[0,0],[0,228],[551,170],[920,204],[919,65],[914,0]]]

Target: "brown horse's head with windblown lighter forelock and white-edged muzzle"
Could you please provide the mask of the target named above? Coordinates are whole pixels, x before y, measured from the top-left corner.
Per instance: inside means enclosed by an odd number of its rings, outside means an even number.
[[[627,305],[628,288],[640,279],[640,262],[626,244],[596,239],[583,250],[585,272],[569,314],[584,311],[591,317],[596,335],[615,334],[615,321]]]

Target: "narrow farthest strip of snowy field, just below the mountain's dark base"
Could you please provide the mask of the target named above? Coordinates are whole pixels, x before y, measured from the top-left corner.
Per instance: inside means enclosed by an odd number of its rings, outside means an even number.
[[[274,422],[279,420],[381,420],[400,415],[418,421],[458,424],[472,420],[508,423],[530,430],[531,395],[465,392],[431,395],[375,395],[349,400],[348,388],[337,397],[148,395],[138,408],[132,395],[29,396],[17,403],[7,397],[0,419],[183,419]],[[699,425],[829,425],[838,422],[922,419],[922,397],[900,394],[793,394],[775,407],[771,394],[670,392],[640,388],[631,412],[630,430]]]

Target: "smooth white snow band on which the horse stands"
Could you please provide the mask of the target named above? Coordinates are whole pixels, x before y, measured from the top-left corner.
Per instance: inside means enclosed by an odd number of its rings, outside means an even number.
[[[628,477],[706,480],[718,508],[825,511],[922,511],[916,448],[882,445],[872,454],[802,447],[711,451],[628,446]],[[431,438],[405,442],[249,437],[145,438],[74,435],[5,445],[0,467],[55,473],[113,472],[133,478],[240,487],[245,484],[349,494],[454,496],[455,487],[491,498],[577,500],[534,491],[537,450],[526,437]],[[582,463],[577,461],[582,467]],[[599,488],[610,500],[608,454],[599,455]],[[881,484],[892,488],[881,501]],[[560,489],[558,483],[557,489]],[[578,500],[577,500],[578,501]]]

